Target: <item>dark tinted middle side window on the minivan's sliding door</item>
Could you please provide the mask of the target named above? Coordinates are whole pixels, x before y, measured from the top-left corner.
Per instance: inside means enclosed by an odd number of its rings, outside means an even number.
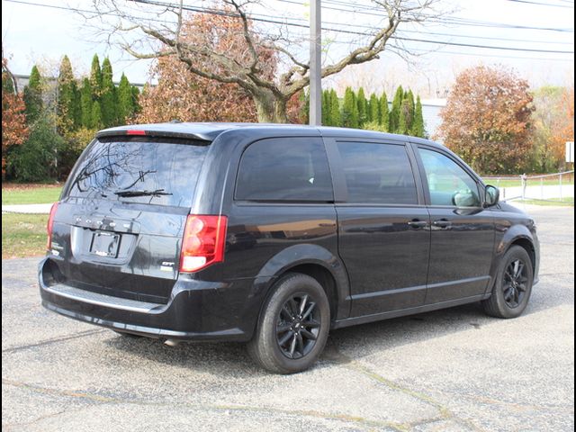
[[[348,202],[417,204],[416,183],[404,146],[339,142]]]

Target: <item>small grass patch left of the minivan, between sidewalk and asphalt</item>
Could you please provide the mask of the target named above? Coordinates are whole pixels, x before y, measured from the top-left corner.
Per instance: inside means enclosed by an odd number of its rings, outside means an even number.
[[[2,259],[44,255],[47,222],[48,214],[3,213]]]

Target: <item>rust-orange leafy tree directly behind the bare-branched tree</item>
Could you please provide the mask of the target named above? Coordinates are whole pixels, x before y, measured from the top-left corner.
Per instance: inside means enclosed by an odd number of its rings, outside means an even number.
[[[246,62],[249,56],[242,37],[242,23],[230,16],[194,14],[183,23],[180,37],[190,46],[202,46],[212,52],[226,52],[231,61]],[[267,76],[275,74],[275,57],[260,48],[260,58],[266,58],[263,69]],[[195,61],[213,73],[224,73],[218,62],[199,56]],[[175,56],[161,56],[152,67],[157,85],[147,86],[140,96],[141,111],[137,121],[257,121],[257,104],[246,89],[229,82],[223,83],[191,71],[190,64]]]

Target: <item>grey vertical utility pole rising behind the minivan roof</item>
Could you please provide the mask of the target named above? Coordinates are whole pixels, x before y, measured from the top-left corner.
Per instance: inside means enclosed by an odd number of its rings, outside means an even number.
[[[320,0],[310,2],[310,124],[322,124],[322,34]]]

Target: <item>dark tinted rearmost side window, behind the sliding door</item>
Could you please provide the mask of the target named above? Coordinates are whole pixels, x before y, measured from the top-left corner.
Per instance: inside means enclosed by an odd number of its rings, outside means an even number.
[[[319,138],[263,139],[242,155],[236,199],[330,202],[328,158]]]

